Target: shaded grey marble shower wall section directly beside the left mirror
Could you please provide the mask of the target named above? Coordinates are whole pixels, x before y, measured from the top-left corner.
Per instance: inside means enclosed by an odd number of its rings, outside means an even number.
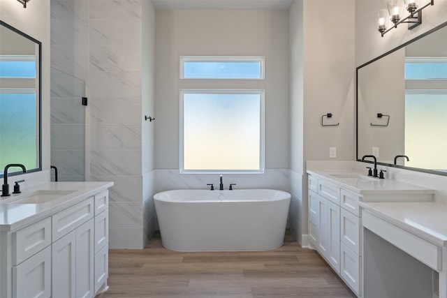
[[[85,181],[88,2],[52,1],[50,10],[51,164],[59,181]]]

